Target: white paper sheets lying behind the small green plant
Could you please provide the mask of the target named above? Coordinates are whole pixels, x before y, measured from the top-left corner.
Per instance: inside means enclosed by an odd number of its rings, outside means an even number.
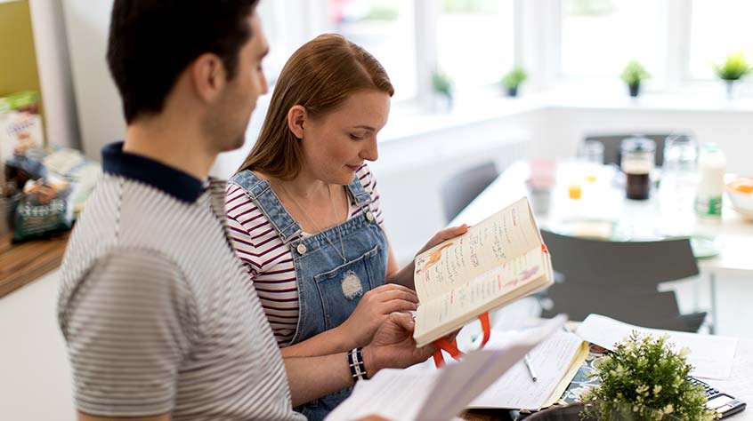
[[[688,348],[688,362],[693,366],[691,375],[694,377],[725,379],[732,374],[737,338],[641,328],[601,314],[589,314],[576,333],[592,344],[614,349],[615,344],[622,342],[633,330],[655,338],[666,333],[668,342],[675,344],[676,351]]]

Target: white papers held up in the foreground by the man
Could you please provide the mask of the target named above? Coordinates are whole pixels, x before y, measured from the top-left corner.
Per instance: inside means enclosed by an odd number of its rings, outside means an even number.
[[[439,370],[383,369],[371,380],[359,382],[351,397],[326,419],[346,421],[368,415],[395,421],[451,419],[564,322],[563,315],[557,316],[506,346],[468,353],[457,364]]]

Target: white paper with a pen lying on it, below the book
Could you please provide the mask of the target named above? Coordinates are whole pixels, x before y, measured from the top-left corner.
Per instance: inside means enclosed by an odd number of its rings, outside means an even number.
[[[486,347],[504,346],[514,336],[516,335],[494,335]],[[555,332],[529,353],[537,381],[531,379],[523,361],[518,361],[481,396],[474,399],[468,408],[541,408],[570,368],[581,343],[583,340],[574,333]]]

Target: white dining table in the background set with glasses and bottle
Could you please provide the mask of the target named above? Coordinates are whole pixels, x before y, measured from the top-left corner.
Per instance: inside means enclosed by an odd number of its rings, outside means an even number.
[[[584,187],[583,198],[572,200],[568,197],[567,181],[577,178],[579,164],[563,163],[558,166],[557,180],[559,184],[552,191],[550,197],[550,211],[546,216],[537,215],[536,222],[540,228],[551,228],[568,218],[608,219],[618,226],[627,227],[634,238],[644,240],[658,240],[661,235],[657,230],[667,220],[660,214],[660,203],[657,192],[652,191],[652,198],[646,201],[627,200],[624,191],[614,187],[609,181],[613,170],[609,166],[595,169],[600,187],[589,191],[583,177],[579,182]],[[513,163],[506,171],[499,175],[481,195],[474,199],[465,210],[460,212],[449,225],[456,226],[463,223],[475,224],[483,218],[489,217],[507,204],[529,195],[525,180],[529,178],[529,164],[523,161]],[[590,197],[589,197],[590,195]],[[690,216],[692,232],[713,236],[719,246],[719,253],[713,258],[699,260],[699,268],[708,272],[711,285],[711,319],[717,322],[716,309],[716,279],[724,273],[735,273],[753,276],[753,223],[750,223],[730,209],[725,203],[721,220],[706,220]]]

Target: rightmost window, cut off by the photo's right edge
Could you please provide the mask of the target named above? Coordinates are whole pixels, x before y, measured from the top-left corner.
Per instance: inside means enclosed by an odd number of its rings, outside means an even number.
[[[734,52],[753,54],[753,2],[749,0],[693,0],[689,75],[713,79],[712,63]]]

